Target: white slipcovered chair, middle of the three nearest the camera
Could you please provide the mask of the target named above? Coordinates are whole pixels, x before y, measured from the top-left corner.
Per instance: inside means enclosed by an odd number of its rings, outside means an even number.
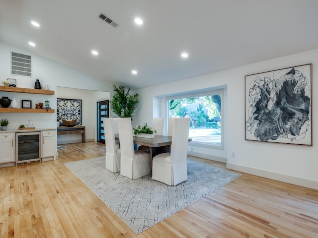
[[[150,174],[150,153],[134,150],[131,118],[118,118],[119,143],[121,150],[120,175],[139,179]]]

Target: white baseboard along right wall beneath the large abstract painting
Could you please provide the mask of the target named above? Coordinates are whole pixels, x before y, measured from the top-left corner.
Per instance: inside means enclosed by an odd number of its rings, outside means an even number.
[[[303,178],[293,177],[289,175],[281,175],[275,172],[259,170],[259,169],[236,165],[232,163],[227,163],[227,169],[318,190],[318,181],[314,181],[314,180],[303,179]]]

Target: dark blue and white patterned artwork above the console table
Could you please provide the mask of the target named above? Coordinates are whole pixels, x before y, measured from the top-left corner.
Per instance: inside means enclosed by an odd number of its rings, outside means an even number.
[[[81,100],[80,99],[57,99],[57,121],[60,126],[64,126],[63,120],[73,121],[77,119],[75,125],[81,125]]]

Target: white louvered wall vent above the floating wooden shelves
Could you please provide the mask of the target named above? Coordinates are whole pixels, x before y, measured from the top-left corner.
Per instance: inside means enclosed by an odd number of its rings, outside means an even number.
[[[11,52],[11,74],[32,77],[32,57]]]

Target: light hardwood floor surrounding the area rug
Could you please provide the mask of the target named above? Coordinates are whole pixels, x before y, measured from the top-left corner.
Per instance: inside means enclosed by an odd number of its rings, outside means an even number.
[[[318,237],[317,190],[247,174],[137,236],[64,166],[105,146],[66,146],[56,161],[0,169],[1,238]]]

